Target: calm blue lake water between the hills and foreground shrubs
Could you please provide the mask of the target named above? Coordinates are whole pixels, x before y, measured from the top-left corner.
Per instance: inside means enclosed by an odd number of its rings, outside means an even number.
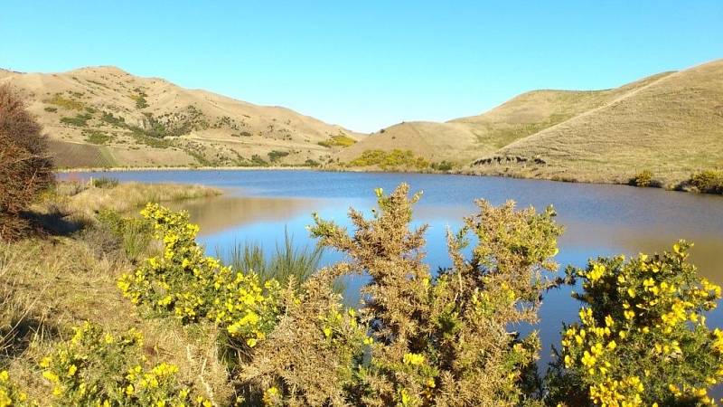
[[[542,210],[552,204],[565,226],[559,240],[560,270],[584,266],[597,256],[670,250],[678,239],[693,241],[691,261],[701,275],[723,283],[723,197],[668,192],[623,185],[583,185],[512,178],[465,175],[362,174],[314,171],[130,171],[82,173],[62,178],[112,176],[121,181],[172,182],[220,187],[225,194],[172,206],[191,213],[201,225],[200,241],[209,254],[233,244],[256,242],[268,252],[283,241],[285,229],[297,245],[314,245],[305,226],[311,213],[348,225],[350,207],[374,207],[374,188],[389,192],[405,182],[423,191],[415,222],[428,223],[427,262],[431,270],[446,267],[446,230],[460,227],[474,213],[474,200],[493,204],[514,200],[519,206]],[[341,260],[326,252],[324,263]],[[361,281],[347,282],[348,300],[356,299]],[[550,291],[540,310],[541,364],[549,361],[550,346],[559,342],[562,321],[577,318],[570,289]],[[349,299],[351,298],[351,299]],[[723,327],[723,308],[713,311],[709,325]],[[718,392],[717,392],[718,393]]]

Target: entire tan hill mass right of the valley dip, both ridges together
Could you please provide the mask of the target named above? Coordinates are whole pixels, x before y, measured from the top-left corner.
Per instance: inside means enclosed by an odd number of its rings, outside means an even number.
[[[394,149],[480,174],[626,182],[649,170],[680,182],[723,166],[723,60],[611,90],[534,90],[446,123],[401,123],[337,158]]]

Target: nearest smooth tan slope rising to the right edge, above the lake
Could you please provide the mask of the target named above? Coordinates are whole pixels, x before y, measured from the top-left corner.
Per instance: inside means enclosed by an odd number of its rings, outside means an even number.
[[[495,156],[539,157],[535,176],[582,181],[624,182],[642,170],[675,181],[723,167],[723,60],[654,80]],[[505,171],[530,171],[508,161]]]

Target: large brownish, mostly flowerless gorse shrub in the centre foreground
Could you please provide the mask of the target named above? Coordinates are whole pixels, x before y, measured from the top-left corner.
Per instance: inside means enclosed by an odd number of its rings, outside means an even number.
[[[424,262],[427,227],[410,229],[419,195],[409,198],[400,185],[378,197],[369,219],[350,210],[351,235],[316,218],[312,233],[348,261],[286,295],[286,312],[242,366],[241,381],[267,405],[534,402],[539,340],[515,327],[537,322],[543,271],[557,268],[554,213],[478,202],[479,213],[448,235],[454,266],[435,276]],[[469,234],[478,243],[465,259]],[[371,277],[365,302],[345,310],[333,279],[362,273]]]

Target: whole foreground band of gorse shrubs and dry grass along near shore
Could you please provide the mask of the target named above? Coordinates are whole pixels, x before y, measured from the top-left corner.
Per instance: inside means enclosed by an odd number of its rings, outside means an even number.
[[[204,254],[186,213],[148,204],[136,218],[70,199],[138,187],[58,185],[36,210],[65,202],[82,229],[0,244],[0,393],[14,402],[704,405],[723,374],[723,333],[704,317],[720,288],[695,275],[685,242],[556,282],[555,213],[480,201],[448,235],[453,266],[432,273],[426,227],[410,228],[420,196],[400,185],[377,191],[371,218],[350,213],[351,235],[315,218],[310,231],[343,262],[315,270],[318,253],[288,240],[270,263],[249,247],[229,266]],[[365,302],[348,307],[334,281],[361,273]],[[535,332],[510,327],[537,324],[546,290],[577,279],[580,320],[561,327],[540,376]]]

